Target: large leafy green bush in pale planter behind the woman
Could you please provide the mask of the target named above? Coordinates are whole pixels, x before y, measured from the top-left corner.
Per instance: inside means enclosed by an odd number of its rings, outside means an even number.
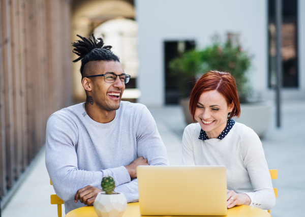
[[[241,108],[241,115],[237,121],[252,128],[260,137],[263,136],[270,121],[271,106],[259,101],[254,102],[250,98],[252,88],[248,81],[248,73],[251,58],[248,52],[242,49],[239,35],[229,33],[225,42],[215,35],[210,46],[182,53],[170,62],[169,68],[178,76],[180,82],[180,104],[188,124],[192,123],[193,119],[189,111],[186,82],[192,82],[194,85],[204,73],[211,70],[229,72],[235,78]]]

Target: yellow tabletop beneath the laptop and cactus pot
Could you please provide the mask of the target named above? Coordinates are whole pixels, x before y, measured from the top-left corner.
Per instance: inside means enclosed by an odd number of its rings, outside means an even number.
[[[94,211],[93,206],[84,206],[78,209],[74,209],[66,214],[66,217],[98,217],[97,213]],[[139,202],[128,203],[127,209],[124,212],[123,217],[140,217]],[[145,215],[146,216],[146,215]],[[235,206],[228,209],[228,214],[226,216],[234,217],[270,217],[271,215],[262,209],[241,205]],[[148,217],[148,216],[147,216]],[[181,216],[182,217],[182,216]]]

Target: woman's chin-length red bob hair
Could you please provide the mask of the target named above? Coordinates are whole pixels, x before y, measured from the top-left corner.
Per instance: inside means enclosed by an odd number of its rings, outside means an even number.
[[[190,112],[194,122],[196,122],[194,116],[199,98],[203,92],[210,90],[217,90],[226,99],[227,105],[234,103],[234,108],[228,118],[239,117],[240,105],[235,79],[227,72],[209,71],[201,76],[191,93]]]

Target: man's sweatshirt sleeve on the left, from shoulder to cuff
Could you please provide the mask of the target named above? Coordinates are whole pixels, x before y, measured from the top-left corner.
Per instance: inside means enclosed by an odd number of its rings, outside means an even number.
[[[52,115],[46,130],[46,167],[57,196],[64,201],[74,200],[77,190],[92,185],[101,188],[104,176],[112,176],[115,185],[130,182],[124,166],[101,171],[78,169],[76,146],[78,130],[73,122],[60,115]]]

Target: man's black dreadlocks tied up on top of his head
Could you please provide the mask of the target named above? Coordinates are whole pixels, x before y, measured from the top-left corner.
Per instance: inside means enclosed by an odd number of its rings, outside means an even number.
[[[105,60],[119,62],[119,58],[110,50],[112,46],[108,45],[103,47],[104,41],[102,38],[96,39],[94,34],[91,35],[92,38],[89,37],[88,39],[80,35],[77,36],[82,40],[77,40],[72,43],[72,46],[74,47],[73,53],[79,56],[77,59],[73,60],[73,63],[76,63],[81,59],[80,74],[82,76],[84,66],[90,61]]]

